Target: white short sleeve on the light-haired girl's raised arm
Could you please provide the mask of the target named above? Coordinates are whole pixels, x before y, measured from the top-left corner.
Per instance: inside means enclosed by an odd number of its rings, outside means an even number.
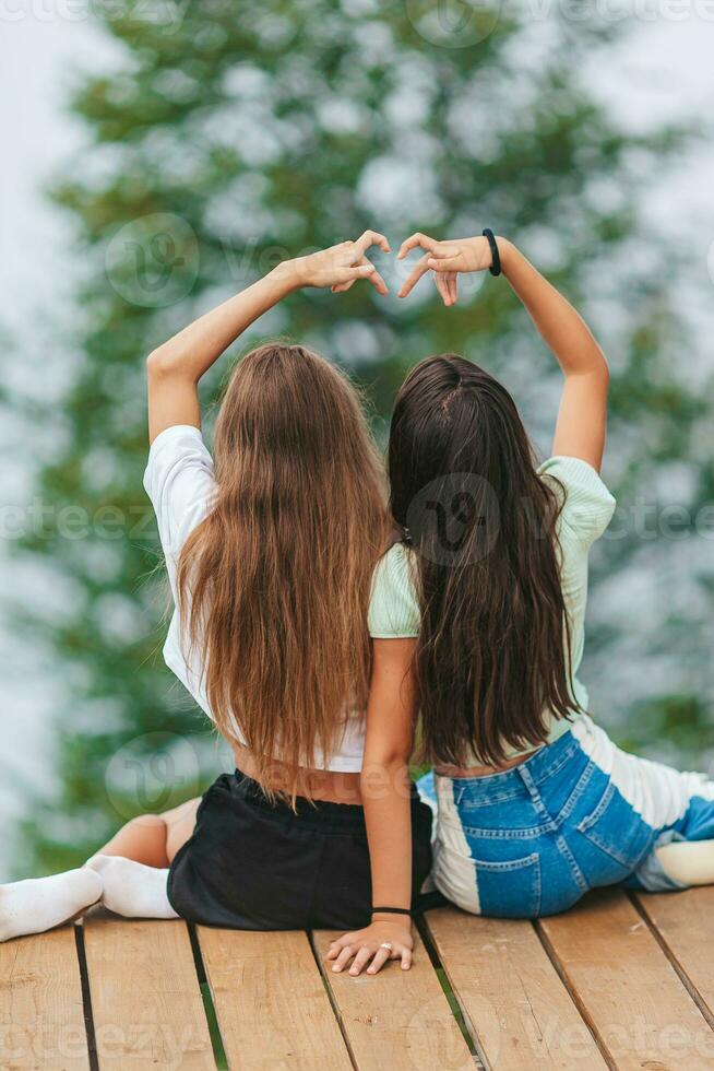
[[[144,489],[151,498],[167,564],[175,563],[209,514],[216,491],[213,459],[198,427],[176,424],[151,445]]]

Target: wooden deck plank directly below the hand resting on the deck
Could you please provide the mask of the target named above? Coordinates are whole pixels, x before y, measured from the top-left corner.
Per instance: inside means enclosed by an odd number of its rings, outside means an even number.
[[[313,934],[355,1067],[359,1071],[474,1071],[475,1061],[421,941],[409,970],[390,963],[377,975],[333,974],[324,962],[338,934]]]

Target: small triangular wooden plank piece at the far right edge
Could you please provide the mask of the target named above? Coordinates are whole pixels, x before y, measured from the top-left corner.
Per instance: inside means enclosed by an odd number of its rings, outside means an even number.
[[[714,887],[707,885],[682,893],[638,893],[634,899],[713,1024]]]

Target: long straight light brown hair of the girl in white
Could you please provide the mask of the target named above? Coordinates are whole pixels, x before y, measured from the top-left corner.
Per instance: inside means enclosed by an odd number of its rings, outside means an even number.
[[[356,390],[301,345],[247,354],[215,434],[213,508],[178,568],[218,730],[237,723],[265,784],[279,758],[293,795],[364,709],[367,609],[388,537],[381,464]],[[235,719],[235,722],[234,722]]]

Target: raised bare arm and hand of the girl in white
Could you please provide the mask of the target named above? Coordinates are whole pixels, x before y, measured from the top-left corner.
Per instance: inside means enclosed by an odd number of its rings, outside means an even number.
[[[389,251],[384,235],[366,231],[357,242],[342,242],[307,257],[286,260],[154,350],[146,361],[150,442],[175,424],[201,426],[201,377],[251,323],[294,290],[337,287],[368,278],[380,294],[385,294],[383,279],[366,257],[372,245]]]

